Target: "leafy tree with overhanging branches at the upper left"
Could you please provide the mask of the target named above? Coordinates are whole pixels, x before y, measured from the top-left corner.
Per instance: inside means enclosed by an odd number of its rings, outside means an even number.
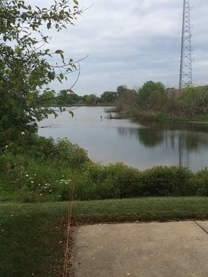
[[[42,26],[59,32],[81,12],[76,0],[55,0],[49,8],[33,8],[22,0],[1,1],[0,133],[12,137],[15,132],[36,132],[36,121],[54,113],[46,102],[60,96],[44,87],[52,80],[67,80],[67,74],[76,70],[76,62],[65,60],[60,49],[51,52],[46,48],[50,37]],[[59,63],[53,62],[57,55]]]

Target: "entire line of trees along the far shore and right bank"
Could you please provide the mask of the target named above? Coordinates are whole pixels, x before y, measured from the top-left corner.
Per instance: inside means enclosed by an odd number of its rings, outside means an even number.
[[[78,96],[69,89],[60,93],[45,90],[42,100],[51,106],[114,105],[123,116],[148,120],[208,121],[208,86],[185,89],[166,88],[162,82],[148,81],[139,89],[121,85],[116,91],[105,91],[101,96]]]

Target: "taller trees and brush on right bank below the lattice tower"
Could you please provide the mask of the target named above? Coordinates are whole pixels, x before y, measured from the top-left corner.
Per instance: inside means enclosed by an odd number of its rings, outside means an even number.
[[[116,106],[127,116],[149,120],[208,121],[208,86],[179,90],[162,82],[145,82],[139,89],[117,88]]]

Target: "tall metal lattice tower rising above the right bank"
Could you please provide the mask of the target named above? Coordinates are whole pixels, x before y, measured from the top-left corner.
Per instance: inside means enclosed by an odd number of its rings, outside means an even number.
[[[192,78],[192,57],[191,57],[191,24],[190,24],[190,3],[184,0],[184,12],[182,23],[182,44],[180,57],[180,84],[183,89],[188,84],[193,84]]]

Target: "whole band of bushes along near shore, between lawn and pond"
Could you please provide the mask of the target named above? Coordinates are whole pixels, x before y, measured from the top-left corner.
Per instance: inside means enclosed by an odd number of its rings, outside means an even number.
[[[10,152],[1,154],[1,199],[67,201],[73,184],[74,199],[79,200],[208,196],[207,168],[196,173],[178,166],[158,166],[140,171],[123,163],[101,166],[87,161],[86,152],[82,152],[81,158],[76,157],[80,148],[69,141],[59,141],[55,151],[54,145],[52,149],[53,154],[51,152],[44,159]]]

